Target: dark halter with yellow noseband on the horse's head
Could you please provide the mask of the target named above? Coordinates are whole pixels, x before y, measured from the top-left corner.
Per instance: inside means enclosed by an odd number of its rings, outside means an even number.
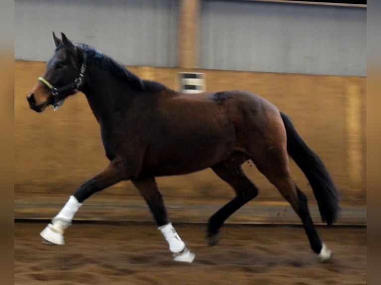
[[[38,81],[42,82],[46,87],[50,89],[50,92],[53,95],[53,111],[57,111],[61,105],[64,103],[64,100],[69,96],[60,96],[63,92],[71,91],[71,93],[77,93],[79,91],[79,88],[81,87],[82,83],[84,82],[85,72],[86,72],[86,53],[81,49],[82,51],[82,65],[80,69],[80,73],[76,79],[74,79],[73,82],[66,84],[62,87],[54,87],[52,84],[49,83],[48,80],[46,80],[44,77],[38,77]],[[62,99],[60,97],[63,97]]]

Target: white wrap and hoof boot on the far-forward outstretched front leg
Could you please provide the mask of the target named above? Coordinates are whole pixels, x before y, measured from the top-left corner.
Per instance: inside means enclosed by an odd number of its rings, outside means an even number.
[[[45,229],[40,232],[45,243],[62,245],[65,244],[64,232],[71,224],[78,209],[82,206],[74,196],[70,196],[62,210],[52,219]]]

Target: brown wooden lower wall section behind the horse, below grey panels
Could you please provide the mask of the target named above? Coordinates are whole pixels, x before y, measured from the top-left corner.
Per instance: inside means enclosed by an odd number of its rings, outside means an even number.
[[[15,197],[29,193],[70,195],[107,164],[98,125],[86,98],[77,94],[57,112],[29,110],[25,94],[45,69],[40,62],[16,61],[15,84]],[[177,88],[183,69],[130,67],[142,78]],[[305,142],[325,162],[343,200],[366,204],[366,78],[241,71],[205,72],[206,89],[245,89],[277,105],[291,117]],[[291,164],[299,187],[312,199],[301,171]],[[259,200],[283,200],[251,163],[244,166],[260,188]],[[233,192],[210,170],[158,179],[166,197],[230,198]],[[138,196],[129,182],[97,195]]]

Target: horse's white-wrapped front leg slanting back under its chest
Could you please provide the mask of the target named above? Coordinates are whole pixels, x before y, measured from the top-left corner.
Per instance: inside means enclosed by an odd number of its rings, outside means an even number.
[[[131,181],[146,200],[159,226],[158,229],[168,242],[173,259],[175,261],[191,263],[194,259],[194,254],[186,247],[172,223],[169,222],[163,196],[160,193],[155,178],[131,179]]]

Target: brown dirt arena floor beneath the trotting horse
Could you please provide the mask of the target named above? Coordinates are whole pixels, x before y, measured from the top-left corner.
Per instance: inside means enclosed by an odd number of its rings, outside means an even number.
[[[318,227],[333,251],[320,263],[299,226],[224,225],[207,247],[205,225],[175,224],[196,254],[172,261],[153,223],[74,222],[64,246],[41,244],[45,222],[15,222],[14,284],[366,284],[366,227]]]

